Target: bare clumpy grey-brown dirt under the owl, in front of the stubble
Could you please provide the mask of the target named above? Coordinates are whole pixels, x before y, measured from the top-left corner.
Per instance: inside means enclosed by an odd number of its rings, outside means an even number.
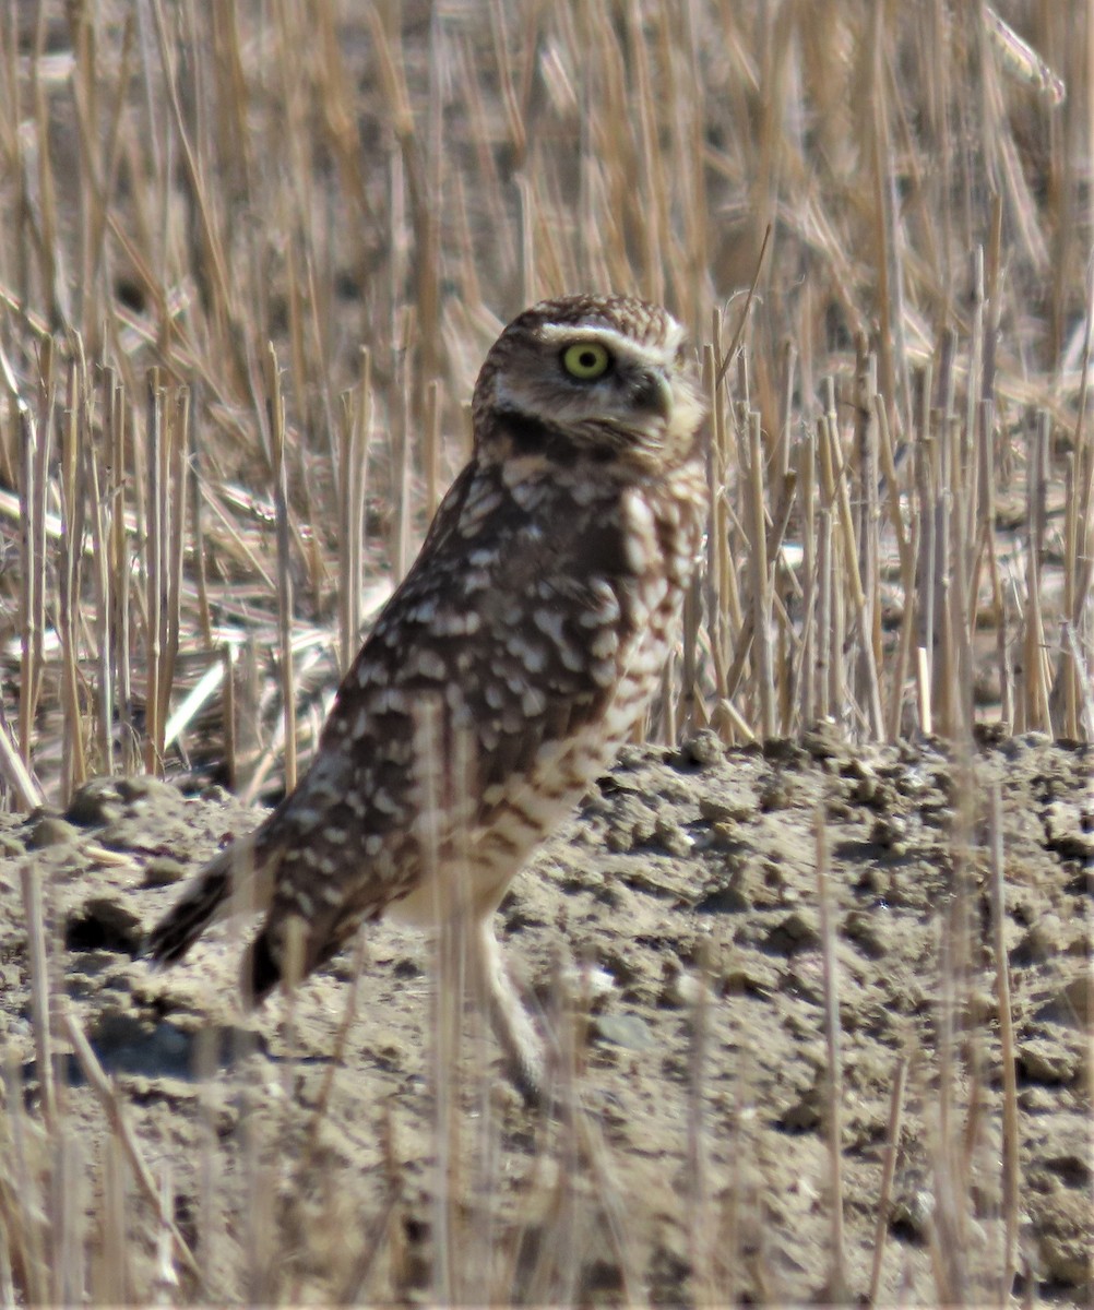
[[[1093,764],[1090,748],[1043,738],[985,741],[967,761],[930,743],[852,749],[824,731],[763,751],[725,752],[706,735],[679,752],[628,749],[500,912],[514,972],[557,1038],[554,1115],[500,1079],[473,1014],[461,1058],[434,1060],[421,938],[371,934],[341,1060],[349,955],[291,1013],[278,1001],[248,1017],[231,929],[185,967],[149,972],[134,955],[172,884],[255,815],[149,779],[93,783],[63,816],[0,827],[0,1035],[29,1107],[8,1128],[26,1148],[42,1116],[18,876],[30,867],[72,1011],[206,1294],[829,1298],[823,817],[849,1293],[870,1292],[880,1235],[878,1301],[994,1297],[1017,1213],[1015,1292],[1086,1302]],[[96,1290],[109,1285],[96,1279],[117,1131],[80,1062],[60,1068],[71,1204],[89,1217]],[[22,1169],[29,1197],[33,1153]],[[200,1294],[164,1256],[155,1207],[132,1186],[127,1222],[139,1259],[122,1292],[148,1298],[174,1267],[174,1294]]]

